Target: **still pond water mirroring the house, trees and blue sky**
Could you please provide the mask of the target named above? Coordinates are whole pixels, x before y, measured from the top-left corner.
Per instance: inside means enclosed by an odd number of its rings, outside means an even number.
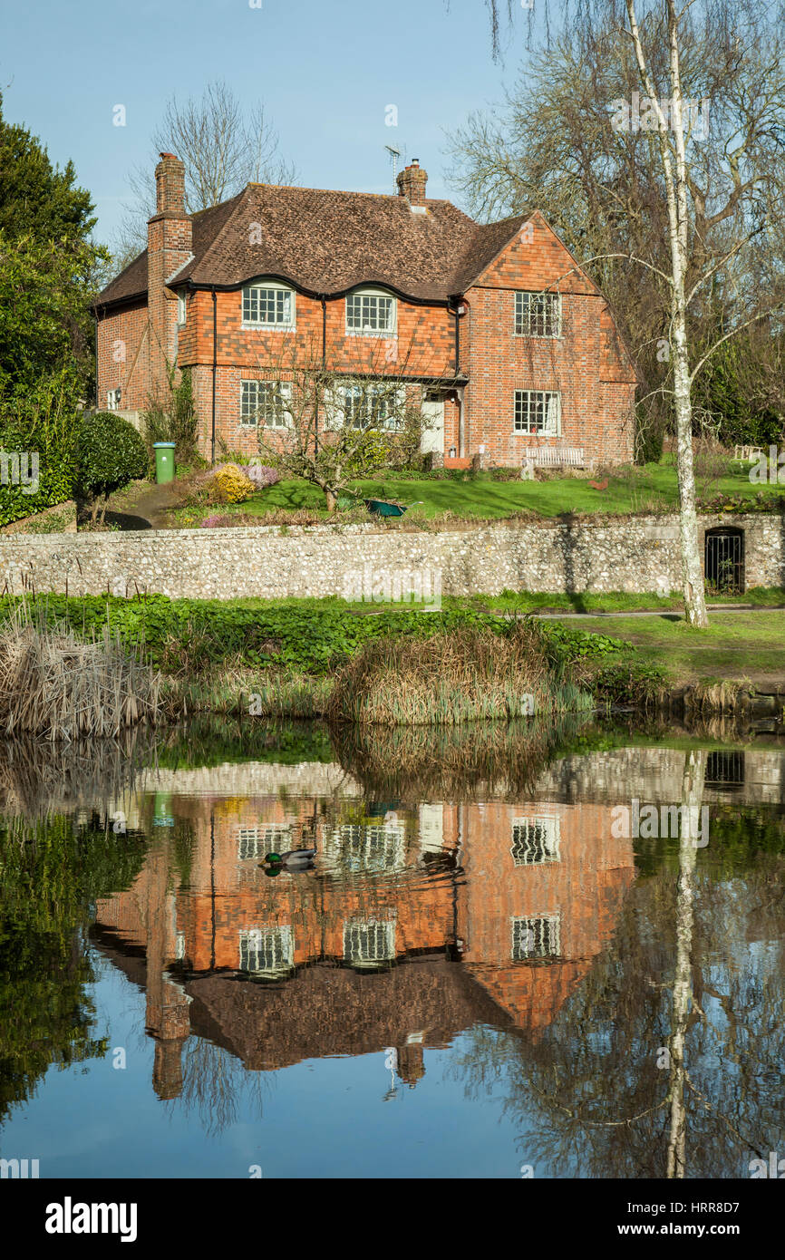
[[[0,1155],[42,1178],[748,1178],[785,1154],[774,735],[6,746],[0,827]],[[301,847],[309,868],[260,864]]]

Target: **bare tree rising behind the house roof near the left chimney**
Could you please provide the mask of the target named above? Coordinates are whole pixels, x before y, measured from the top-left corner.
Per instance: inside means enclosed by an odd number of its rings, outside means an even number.
[[[129,262],[146,243],[146,222],[155,213],[155,164],[159,152],[175,152],[185,163],[185,209],[189,214],[218,205],[248,183],[294,184],[296,170],[284,159],[278,135],[261,102],[246,107],[223,79],[207,84],[202,96],[178,102],[170,97],[152,134],[152,151],[129,184],[132,202],[120,229],[115,256]]]

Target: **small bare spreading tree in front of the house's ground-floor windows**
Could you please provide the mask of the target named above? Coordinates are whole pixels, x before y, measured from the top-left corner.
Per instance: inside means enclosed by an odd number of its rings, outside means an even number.
[[[372,363],[343,372],[326,368],[321,350],[294,349],[249,382],[244,418],[258,426],[261,455],[319,486],[329,512],[350,481],[406,467],[420,451],[427,422],[422,387],[407,382],[412,345],[401,362],[393,344],[381,340]]]

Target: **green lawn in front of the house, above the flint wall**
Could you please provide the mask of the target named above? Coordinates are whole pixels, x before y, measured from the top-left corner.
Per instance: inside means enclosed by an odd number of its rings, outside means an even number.
[[[760,490],[779,493],[780,486],[761,486],[750,481],[746,469],[708,483],[698,479],[698,493],[753,498]],[[496,520],[517,512],[543,517],[563,513],[630,513],[678,507],[675,469],[670,457],[660,464],[620,470],[609,476],[605,490],[595,490],[581,478],[554,478],[549,481],[494,481],[489,472],[459,479],[379,476],[353,483],[352,489],[365,499],[394,499],[410,505],[408,517],[437,517],[451,512],[460,517]],[[277,510],[307,510],[326,517],[324,495],[300,480],[285,480],[255,494],[236,510],[263,515]]]

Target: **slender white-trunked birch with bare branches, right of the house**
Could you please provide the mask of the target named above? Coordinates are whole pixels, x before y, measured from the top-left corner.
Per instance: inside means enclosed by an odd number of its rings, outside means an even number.
[[[498,52],[503,4],[488,0],[488,6]],[[512,0],[507,8],[512,18]],[[572,0],[564,15],[564,38],[578,62],[596,64],[597,49],[607,50],[615,32],[624,47],[611,45],[614,69],[631,63],[638,79],[634,94],[625,83],[612,100],[600,92],[600,111],[578,111],[571,142],[578,149],[590,144],[599,112],[605,112],[600,151],[607,164],[604,190],[611,194],[630,152],[643,149],[656,163],[634,209],[644,237],[655,228],[659,244],[655,239],[648,253],[636,253],[629,244],[606,243],[580,257],[583,265],[634,263],[665,295],[662,358],[669,382],[662,388],[669,391],[674,415],[684,602],[694,626],[708,625],[692,446],[696,381],[730,338],[785,305],[781,258],[771,260],[761,247],[781,233],[785,205],[785,62],[777,10],[776,0],[687,0],[683,8],[675,0]],[[712,58],[709,48],[717,50]],[[703,149],[707,131],[714,144]],[[751,282],[756,272],[762,284]],[[696,339],[690,316],[718,296],[725,301],[714,335]]]

